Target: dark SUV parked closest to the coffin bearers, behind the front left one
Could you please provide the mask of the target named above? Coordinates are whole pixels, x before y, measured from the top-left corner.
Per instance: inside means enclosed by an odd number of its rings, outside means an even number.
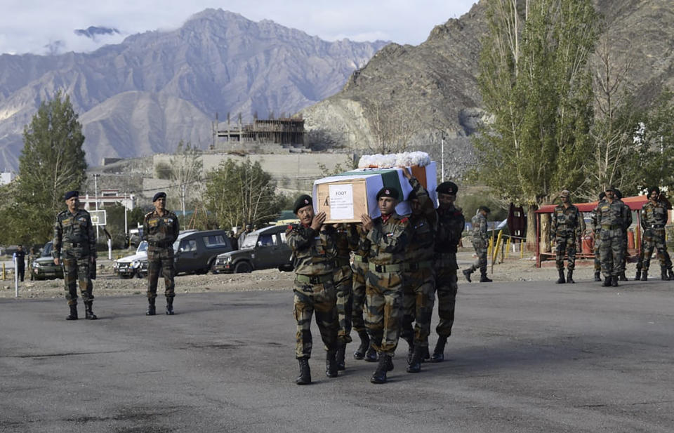
[[[253,272],[255,269],[293,270],[293,251],[286,243],[286,226],[273,225],[251,232],[237,251],[218,255],[216,272]]]

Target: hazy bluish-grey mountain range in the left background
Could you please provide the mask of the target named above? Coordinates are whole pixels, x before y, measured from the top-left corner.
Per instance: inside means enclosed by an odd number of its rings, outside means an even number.
[[[0,168],[18,166],[21,133],[62,89],[84,125],[88,163],[205,148],[211,121],[291,114],[333,95],[386,43],[329,42],[275,22],[206,9],[171,32],[128,36],[92,53],[0,55]]]

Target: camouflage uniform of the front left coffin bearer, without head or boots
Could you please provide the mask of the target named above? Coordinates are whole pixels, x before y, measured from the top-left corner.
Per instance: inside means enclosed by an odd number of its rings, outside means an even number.
[[[333,230],[317,232],[312,227],[292,224],[286,241],[293,250],[295,288],[293,312],[297,321],[295,357],[311,357],[311,317],[316,323],[328,352],[337,349],[338,317],[336,289],[333,283],[336,245]]]

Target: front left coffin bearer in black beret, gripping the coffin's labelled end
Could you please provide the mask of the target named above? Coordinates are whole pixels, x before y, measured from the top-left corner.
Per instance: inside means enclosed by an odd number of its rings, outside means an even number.
[[[316,324],[326,350],[325,374],[337,377],[337,295],[333,282],[336,246],[334,230],[323,224],[325,213],[314,214],[311,196],[302,195],[294,210],[299,224],[291,224],[286,240],[293,250],[295,288],[293,311],[297,321],[295,356],[300,365],[297,385],[311,383],[311,317],[316,312]]]

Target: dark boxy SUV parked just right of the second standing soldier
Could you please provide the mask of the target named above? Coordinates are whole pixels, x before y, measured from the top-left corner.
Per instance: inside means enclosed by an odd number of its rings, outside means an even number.
[[[227,230],[187,231],[178,235],[173,243],[176,274],[206,272],[217,273],[214,268],[218,254],[232,251],[232,242]]]

